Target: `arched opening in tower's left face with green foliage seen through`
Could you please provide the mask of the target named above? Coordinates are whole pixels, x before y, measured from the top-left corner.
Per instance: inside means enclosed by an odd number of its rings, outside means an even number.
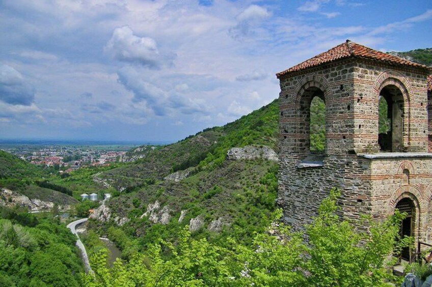
[[[300,113],[305,153],[323,154],[326,149],[326,104],[321,89],[309,87],[305,90],[300,101]]]

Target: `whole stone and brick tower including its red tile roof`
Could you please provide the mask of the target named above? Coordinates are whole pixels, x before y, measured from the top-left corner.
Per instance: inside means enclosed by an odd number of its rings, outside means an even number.
[[[343,214],[381,219],[407,211],[405,234],[432,242],[430,68],[350,42],[277,74],[278,203],[294,230],[310,222],[332,187]],[[325,150],[310,151],[310,104],[325,103]],[[390,131],[379,135],[379,102]],[[429,117],[428,117],[429,112]]]

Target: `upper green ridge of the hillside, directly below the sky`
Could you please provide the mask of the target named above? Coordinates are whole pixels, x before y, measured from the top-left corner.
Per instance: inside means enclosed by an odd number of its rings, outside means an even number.
[[[147,152],[144,158],[97,177],[128,191],[162,180],[175,171],[198,166],[200,169],[218,165],[225,160],[226,152],[232,147],[245,145],[267,145],[277,148],[278,102],[252,112],[247,116],[222,127],[206,129],[195,136],[187,137],[175,144]],[[138,154],[146,146],[134,149]],[[129,152],[133,156],[134,151]]]

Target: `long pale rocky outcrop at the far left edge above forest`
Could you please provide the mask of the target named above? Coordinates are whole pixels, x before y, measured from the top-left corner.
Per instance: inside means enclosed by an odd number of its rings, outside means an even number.
[[[27,208],[30,212],[50,211],[54,207],[53,202],[30,199],[10,189],[2,188],[0,193],[0,205],[14,207],[16,205]],[[58,205],[59,210],[71,209],[70,205]]]

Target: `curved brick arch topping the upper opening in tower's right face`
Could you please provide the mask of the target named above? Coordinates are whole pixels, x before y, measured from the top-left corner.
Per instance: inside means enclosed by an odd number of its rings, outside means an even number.
[[[381,90],[388,85],[395,85],[402,92],[403,101],[407,105],[414,99],[410,82],[402,74],[395,71],[385,71],[376,78],[373,84],[376,98],[380,96]]]

